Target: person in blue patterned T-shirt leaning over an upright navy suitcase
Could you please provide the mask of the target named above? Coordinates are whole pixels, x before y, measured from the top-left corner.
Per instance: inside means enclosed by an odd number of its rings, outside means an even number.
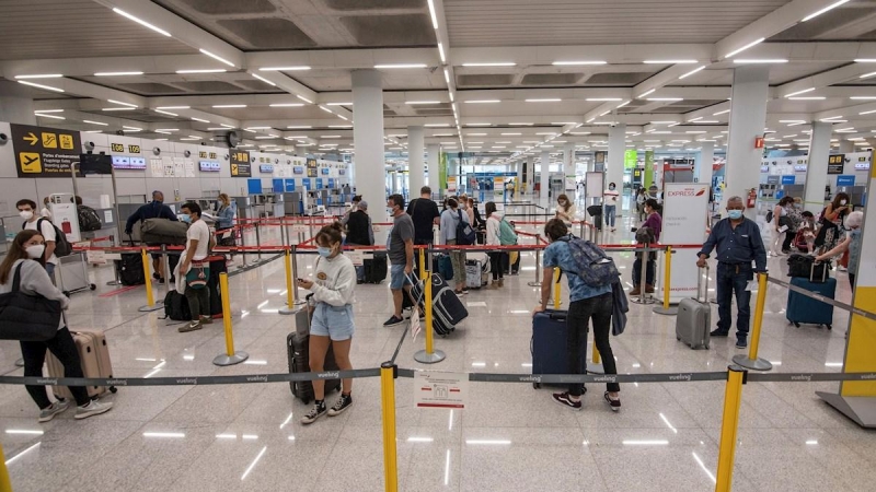
[[[611,284],[598,288],[590,286],[575,274],[578,271],[577,262],[572,257],[568,244],[574,236],[569,234],[566,224],[562,220],[551,219],[548,221],[544,225],[544,235],[548,236],[551,244],[544,248],[541,304],[535,306],[534,313],[543,312],[546,308],[548,300],[551,297],[551,291],[553,290],[554,268],[558,268],[565,273],[569,290],[569,305],[566,315],[566,329],[568,330],[566,354],[568,356],[569,374],[585,374],[587,371],[587,367],[581,366],[581,351],[587,350],[587,330],[590,319],[593,321],[596,348],[602,355],[602,367],[606,374],[618,374],[614,353],[611,351],[609,340],[611,313],[614,306]],[[580,410],[583,388],[584,385],[579,383],[572,384],[568,387],[568,391],[555,393],[553,400],[565,407]],[[619,395],[621,386],[618,383],[609,383],[606,389],[603,398],[611,409],[616,412],[621,409]]]

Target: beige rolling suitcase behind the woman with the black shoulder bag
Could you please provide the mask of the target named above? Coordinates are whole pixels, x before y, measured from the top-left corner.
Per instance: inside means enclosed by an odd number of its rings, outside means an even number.
[[[103,331],[70,331],[73,336],[79,359],[82,364],[84,377],[113,377],[113,362],[110,360],[110,349]],[[49,377],[64,377],[64,365],[51,352],[46,353],[46,366]],[[89,397],[100,398],[107,390],[116,393],[115,386],[88,386]],[[67,386],[53,386],[56,398],[72,401],[73,395]]]

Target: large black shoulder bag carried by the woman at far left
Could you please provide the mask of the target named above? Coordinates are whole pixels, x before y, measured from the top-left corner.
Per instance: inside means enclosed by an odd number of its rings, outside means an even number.
[[[21,292],[22,265],[15,267],[12,291],[0,294],[0,340],[50,340],[61,324],[61,303]]]

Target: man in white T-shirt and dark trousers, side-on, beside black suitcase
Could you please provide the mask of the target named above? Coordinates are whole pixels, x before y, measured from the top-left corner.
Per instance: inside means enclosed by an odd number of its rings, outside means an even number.
[[[207,280],[210,278],[210,227],[200,220],[200,206],[194,202],[182,208],[183,221],[188,222],[186,246],[180,262],[180,274],[185,280],[185,298],[192,313],[192,323],[181,326],[178,331],[199,330],[203,325],[211,325],[210,290]]]

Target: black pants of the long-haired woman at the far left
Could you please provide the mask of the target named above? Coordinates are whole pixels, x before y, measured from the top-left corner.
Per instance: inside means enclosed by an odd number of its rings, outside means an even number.
[[[21,356],[24,359],[24,377],[43,377],[43,363],[46,362],[46,350],[51,352],[64,364],[65,377],[84,377],[82,361],[76,348],[73,336],[67,327],[58,330],[55,338],[42,342],[22,341]],[[51,405],[45,386],[25,386],[39,409]],[[76,405],[83,406],[90,401],[89,393],[82,386],[70,386],[70,393],[76,399]]]

